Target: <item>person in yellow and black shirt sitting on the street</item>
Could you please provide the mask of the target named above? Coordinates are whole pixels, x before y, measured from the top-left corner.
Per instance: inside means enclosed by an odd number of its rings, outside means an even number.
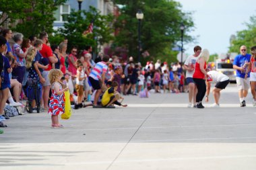
[[[109,87],[102,96],[102,106],[105,108],[115,108],[113,104],[120,105],[123,107],[127,107],[127,105],[121,104],[117,101],[117,97],[115,97],[115,93],[117,91],[118,83],[117,81],[113,81],[111,83],[111,87]]]

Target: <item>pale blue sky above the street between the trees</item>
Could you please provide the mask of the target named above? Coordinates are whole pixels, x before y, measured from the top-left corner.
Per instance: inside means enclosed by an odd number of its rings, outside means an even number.
[[[245,30],[245,22],[256,15],[253,0],[176,0],[183,5],[183,11],[194,11],[195,31],[191,36],[199,36],[197,42],[207,48],[210,54],[228,51],[230,36]],[[193,54],[197,44],[185,44],[186,54]]]

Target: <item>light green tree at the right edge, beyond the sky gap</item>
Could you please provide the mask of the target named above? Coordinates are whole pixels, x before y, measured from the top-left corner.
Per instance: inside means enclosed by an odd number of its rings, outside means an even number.
[[[246,24],[247,29],[236,33],[236,38],[231,42],[229,52],[240,53],[242,45],[251,48],[256,44],[256,15],[250,17],[250,22]]]

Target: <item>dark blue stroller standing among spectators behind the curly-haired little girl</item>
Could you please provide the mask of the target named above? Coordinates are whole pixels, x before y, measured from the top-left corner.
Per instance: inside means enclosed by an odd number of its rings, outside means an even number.
[[[38,79],[28,79],[27,81],[28,87],[27,87],[27,97],[28,97],[28,112],[32,113],[32,101],[33,99],[36,100],[36,112],[40,112],[40,98],[42,95],[42,85],[38,81]]]

